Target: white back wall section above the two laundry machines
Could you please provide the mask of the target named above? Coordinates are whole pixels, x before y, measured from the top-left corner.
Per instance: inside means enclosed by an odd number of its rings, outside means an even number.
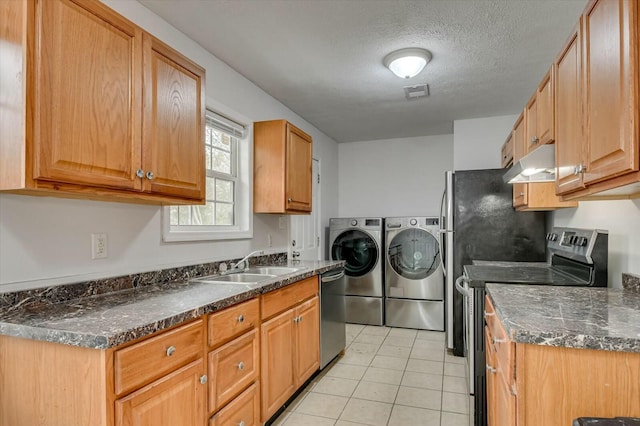
[[[339,144],[341,217],[438,216],[453,135]]]

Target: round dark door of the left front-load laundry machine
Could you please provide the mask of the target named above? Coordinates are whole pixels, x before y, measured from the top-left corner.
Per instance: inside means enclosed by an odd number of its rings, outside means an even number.
[[[362,277],[378,263],[379,248],[371,235],[357,229],[342,232],[331,246],[331,259],[344,260],[350,277]]]

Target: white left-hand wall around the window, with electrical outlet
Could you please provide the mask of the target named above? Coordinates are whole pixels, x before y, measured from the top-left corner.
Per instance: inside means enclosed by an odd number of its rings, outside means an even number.
[[[338,215],[338,146],[253,83],[178,32],[140,3],[105,0],[122,15],[207,70],[207,103],[250,121],[285,118],[314,140],[320,159],[322,223]],[[254,215],[250,240],[163,243],[161,208],[136,204],[0,194],[0,292],[76,282],[171,266],[240,257],[254,249],[286,250],[288,230],[278,216]],[[90,234],[106,232],[109,257],[90,258]]]

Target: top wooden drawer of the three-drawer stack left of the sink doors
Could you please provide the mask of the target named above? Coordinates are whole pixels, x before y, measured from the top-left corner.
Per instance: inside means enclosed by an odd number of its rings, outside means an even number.
[[[259,320],[259,309],[260,304],[256,297],[209,315],[209,346],[217,346],[234,336],[256,328]]]

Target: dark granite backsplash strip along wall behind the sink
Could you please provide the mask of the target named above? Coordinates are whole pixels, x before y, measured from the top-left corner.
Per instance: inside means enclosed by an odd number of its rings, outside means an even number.
[[[158,283],[187,281],[191,278],[217,274],[222,263],[227,265],[240,260],[229,259],[218,262],[200,263],[159,271],[122,275],[101,280],[84,281],[73,284],[36,288],[12,293],[0,293],[0,311],[18,308],[37,309],[38,306],[65,302],[83,297],[96,296],[121,290],[130,290]],[[287,262],[287,253],[273,253],[249,259],[251,265],[272,265]]]

